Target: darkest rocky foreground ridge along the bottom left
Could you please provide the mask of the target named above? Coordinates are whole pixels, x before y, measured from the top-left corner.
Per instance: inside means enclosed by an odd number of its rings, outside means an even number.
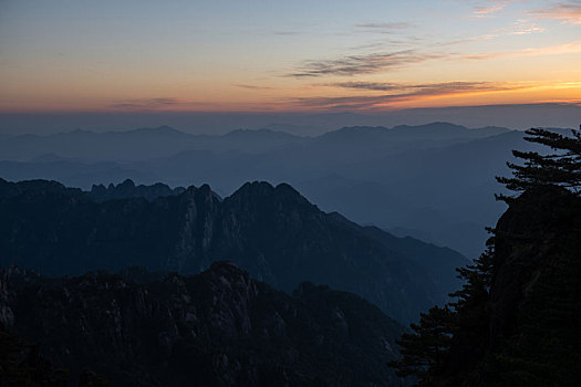
[[[404,328],[354,294],[303,283],[291,296],[229,262],[139,282],[152,276],[0,271],[0,339],[38,344],[0,347],[0,385],[406,385],[386,367]]]

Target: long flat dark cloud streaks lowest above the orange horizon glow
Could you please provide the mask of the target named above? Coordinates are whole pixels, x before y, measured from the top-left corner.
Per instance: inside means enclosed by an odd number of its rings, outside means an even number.
[[[292,102],[314,108],[357,108],[369,109],[376,106],[386,106],[397,102],[424,98],[460,95],[469,93],[507,92],[531,87],[528,84],[498,83],[498,82],[443,82],[425,84],[381,83],[381,82],[343,82],[329,84],[341,88],[363,91],[382,91],[388,94],[351,95],[340,97],[300,97]]]

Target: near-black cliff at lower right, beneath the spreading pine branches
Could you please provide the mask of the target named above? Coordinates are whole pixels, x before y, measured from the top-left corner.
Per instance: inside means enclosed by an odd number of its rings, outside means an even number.
[[[434,385],[578,386],[581,198],[527,190],[499,219],[490,258],[489,292],[457,313]]]

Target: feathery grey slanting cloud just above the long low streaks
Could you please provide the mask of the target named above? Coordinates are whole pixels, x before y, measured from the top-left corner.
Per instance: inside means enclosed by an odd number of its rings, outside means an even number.
[[[288,74],[293,77],[323,75],[360,75],[396,70],[403,66],[443,57],[444,54],[425,53],[417,50],[402,50],[390,53],[347,55],[334,60],[307,61],[298,71]]]

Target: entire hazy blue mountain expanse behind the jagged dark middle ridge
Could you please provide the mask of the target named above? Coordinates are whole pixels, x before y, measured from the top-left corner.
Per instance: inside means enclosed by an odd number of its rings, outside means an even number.
[[[426,236],[476,258],[505,206],[494,199],[522,133],[448,123],[344,127],[317,137],[271,129],[222,136],[159,127],[76,130],[0,142],[0,177],[55,179],[89,189],[131,178],[170,186],[210,184],[228,196],[246,181],[289,182],[325,211],[363,224]],[[3,160],[2,160],[3,159]]]

